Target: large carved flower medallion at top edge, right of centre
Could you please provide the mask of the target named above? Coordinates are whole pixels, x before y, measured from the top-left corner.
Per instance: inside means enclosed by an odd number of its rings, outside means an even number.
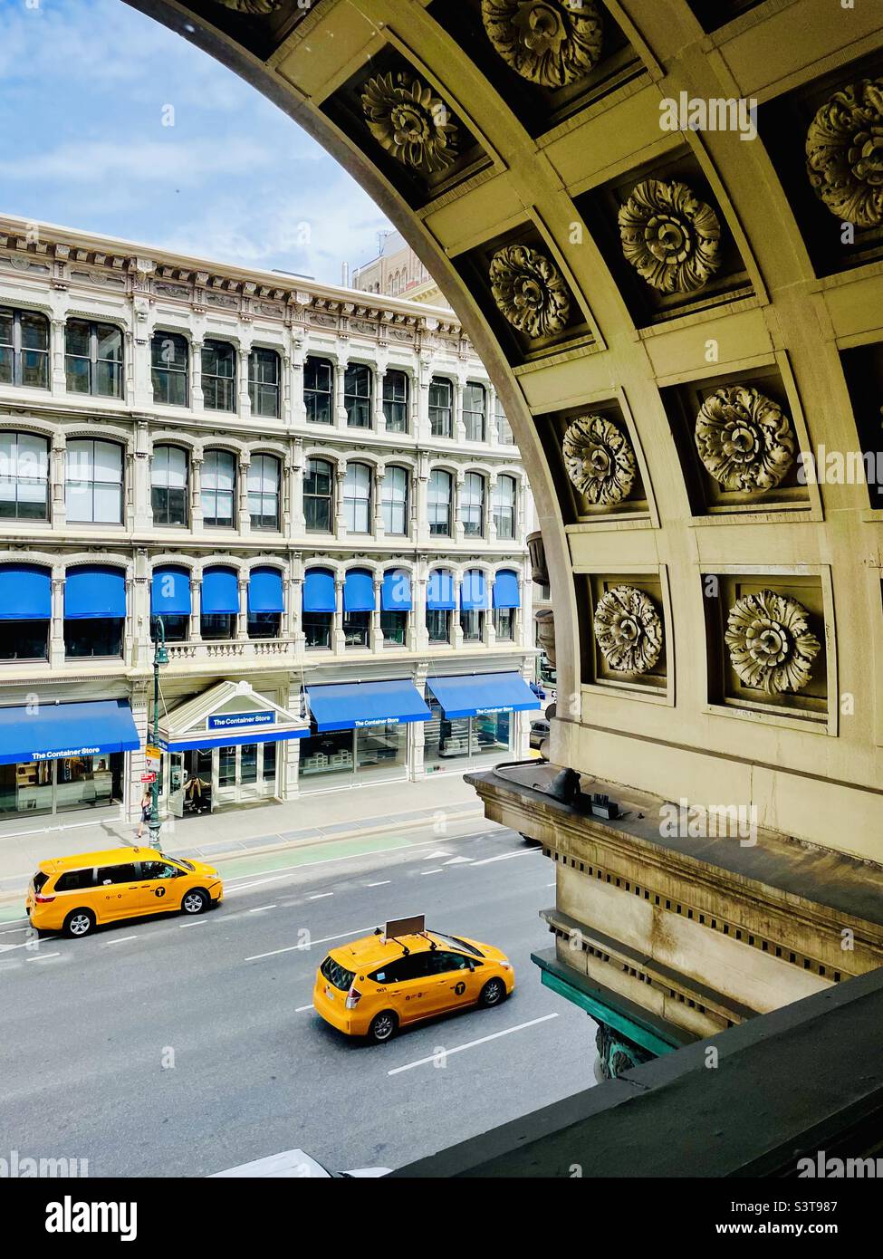
[[[481,19],[503,60],[540,87],[584,78],[601,57],[595,0],[481,0]]]

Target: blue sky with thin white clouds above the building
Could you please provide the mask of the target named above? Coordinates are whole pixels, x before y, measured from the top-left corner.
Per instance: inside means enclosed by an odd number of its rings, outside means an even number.
[[[5,214],[328,283],[388,228],[297,123],[122,0],[0,0],[0,133]]]

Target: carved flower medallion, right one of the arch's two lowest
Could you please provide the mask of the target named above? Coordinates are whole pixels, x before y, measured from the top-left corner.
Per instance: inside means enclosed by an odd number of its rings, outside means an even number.
[[[724,638],[733,669],[746,686],[768,695],[801,691],[821,651],[806,608],[775,590],[738,599],[729,609]]]

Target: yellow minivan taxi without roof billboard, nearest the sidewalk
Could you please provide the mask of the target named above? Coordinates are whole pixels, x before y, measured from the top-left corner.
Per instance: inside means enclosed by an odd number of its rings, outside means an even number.
[[[159,849],[108,849],[40,861],[25,913],[38,932],[88,935],[103,923],[181,910],[202,914],[220,903],[218,871]]]

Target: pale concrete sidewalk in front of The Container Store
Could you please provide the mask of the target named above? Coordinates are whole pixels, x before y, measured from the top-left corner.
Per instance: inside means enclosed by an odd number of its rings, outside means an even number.
[[[461,777],[438,776],[418,783],[378,783],[322,792],[183,821],[170,818],[162,823],[160,836],[170,856],[178,852],[217,859],[423,822],[430,830],[436,821],[469,816],[477,821],[482,815],[475,789]],[[0,899],[21,893],[39,861],[134,845],[135,831],[136,826],[128,822],[84,821],[64,831],[0,837]],[[141,842],[150,842],[146,830]]]

